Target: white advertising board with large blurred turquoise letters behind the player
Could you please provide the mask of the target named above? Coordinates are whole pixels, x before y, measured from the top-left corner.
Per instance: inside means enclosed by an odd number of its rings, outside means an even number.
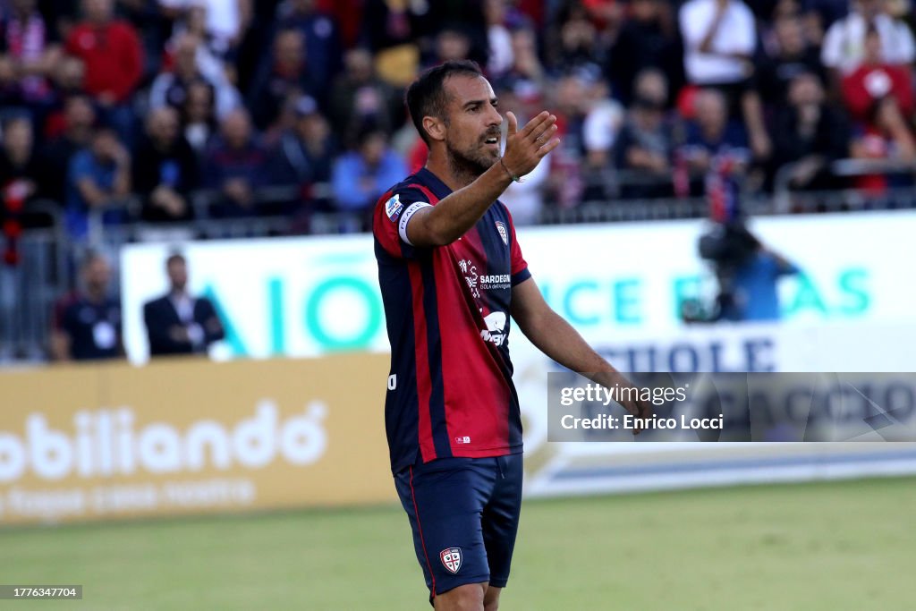
[[[656,366],[662,368],[666,359],[693,358],[686,349],[678,351],[678,338],[699,350],[701,369],[714,367],[716,359],[740,368],[768,354],[794,359],[785,365],[775,361],[782,370],[802,366],[796,353],[780,352],[778,345],[702,346],[690,339],[695,332],[680,321],[682,300],[711,299],[715,290],[709,266],[697,253],[708,227],[698,220],[564,225],[519,228],[518,238],[548,302],[590,341],[629,338],[655,346],[661,351]],[[916,213],[759,218],[751,228],[802,268],[802,275],[781,280],[787,327],[912,320]],[[125,345],[135,363],[147,360],[142,307],[166,291],[164,264],[171,249],[130,245],[123,251]],[[227,339],[214,347],[214,356],[388,349],[369,235],[192,242],[181,251],[188,258],[191,291],[212,299],[226,326]],[[856,333],[854,326],[845,326],[845,333]],[[806,369],[815,367],[808,362]],[[638,368],[647,366],[640,362]]]

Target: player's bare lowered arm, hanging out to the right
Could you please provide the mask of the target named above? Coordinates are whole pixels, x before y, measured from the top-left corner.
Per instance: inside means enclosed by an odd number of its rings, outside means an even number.
[[[512,288],[512,319],[532,344],[567,369],[588,376],[604,387],[632,386],[627,376],[605,361],[569,322],[551,309],[534,278]],[[647,418],[652,413],[651,404],[638,398],[621,405],[639,418]]]

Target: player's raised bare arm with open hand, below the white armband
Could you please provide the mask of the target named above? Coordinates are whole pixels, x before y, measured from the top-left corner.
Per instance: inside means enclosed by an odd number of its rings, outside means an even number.
[[[535,169],[540,160],[560,144],[551,139],[557,131],[557,117],[547,111],[534,117],[518,131],[518,121],[507,113],[509,121],[506,153],[471,184],[454,191],[435,206],[426,206],[409,216],[407,236],[415,246],[452,244],[480,220],[486,209],[509,186],[508,171],[524,176]],[[505,167],[504,167],[505,166]],[[403,217],[401,222],[404,223]]]

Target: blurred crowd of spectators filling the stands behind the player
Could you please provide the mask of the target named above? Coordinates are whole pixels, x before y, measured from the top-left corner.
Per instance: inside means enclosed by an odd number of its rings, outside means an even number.
[[[5,257],[37,200],[77,243],[93,210],[290,231],[365,213],[425,159],[404,87],[450,59],[520,121],[559,117],[537,188],[507,191],[522,223],[696,195],[710,172],[769,190],[789,163],[793,188],[844,187],[835,159],[916,160],[912,23],[908,0],[0,0]],[[277,185],[293,195],[258,197]]]

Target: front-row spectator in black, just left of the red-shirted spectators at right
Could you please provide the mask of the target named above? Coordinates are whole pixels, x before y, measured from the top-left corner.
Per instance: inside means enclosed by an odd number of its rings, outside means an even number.
[[[773,158],[792,164],[789,186],[806,190],[842,186],[830,173],[830,164],[848,154],[849,128],[825,103],[821,81],[812,73],[797,74],[789,86],[788,102],[777,115]]]

